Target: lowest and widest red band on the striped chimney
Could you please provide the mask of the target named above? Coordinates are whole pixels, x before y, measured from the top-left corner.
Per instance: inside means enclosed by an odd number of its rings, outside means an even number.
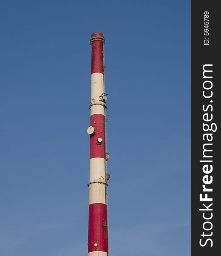
[[[107,252],[107,217],[105,204],[89,205],[88,253]],[[94,244],[98,246],[95,247]]]

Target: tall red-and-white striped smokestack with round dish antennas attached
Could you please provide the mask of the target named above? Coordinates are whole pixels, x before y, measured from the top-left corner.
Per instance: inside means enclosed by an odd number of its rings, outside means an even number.
[[[106,161],[106,99],[104,82],[104,44],[102,33],[93,33],[91,55],[91,125],[90,134],[90,180],[88,256],[108,256],[108,194]]]

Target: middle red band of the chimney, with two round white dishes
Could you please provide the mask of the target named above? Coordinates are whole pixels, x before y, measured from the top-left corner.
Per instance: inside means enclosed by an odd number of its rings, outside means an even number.
[[[105,116],[94,114],[91,116],[91,126],[94,127],[95,133],[90,139],[90,159],[94,157],[105,158]],[[102,138],[102,142],[97,141]]]

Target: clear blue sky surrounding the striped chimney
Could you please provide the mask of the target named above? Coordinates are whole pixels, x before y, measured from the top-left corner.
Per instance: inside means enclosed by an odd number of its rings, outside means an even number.
[[[190,0],[0,1],[1,256],[87,255],[97,31],[110,256],[190,255],[190,12]]]

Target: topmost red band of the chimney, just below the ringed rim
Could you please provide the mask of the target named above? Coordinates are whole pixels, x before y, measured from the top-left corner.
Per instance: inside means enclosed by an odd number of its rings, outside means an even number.
[[[93,73],[104,73],[103,43],[101,41],[95,41],[92,44],[91,74]]]

